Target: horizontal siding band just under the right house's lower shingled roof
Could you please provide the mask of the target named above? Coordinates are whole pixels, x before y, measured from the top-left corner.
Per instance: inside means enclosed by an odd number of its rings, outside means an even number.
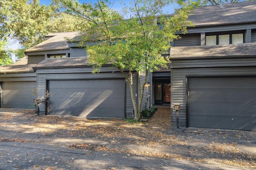
[[[221,67],[221,66],[256,66],[256,57],[232,58],[232,59],[189,59],[173,60],[172,66],[176,67]]]

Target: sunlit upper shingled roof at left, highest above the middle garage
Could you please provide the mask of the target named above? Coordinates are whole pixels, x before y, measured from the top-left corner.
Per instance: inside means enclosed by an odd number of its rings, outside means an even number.
[[[62,50],[69,49],[68,40],[66,37],[72,39],[78,32],[65,32],[65,33],[51,33],[46,35],[46,40],[42,43],[27,49],[25,53],[32,51],[48,51],[48,50]],[[50,38],[49,38],[50,37]]]

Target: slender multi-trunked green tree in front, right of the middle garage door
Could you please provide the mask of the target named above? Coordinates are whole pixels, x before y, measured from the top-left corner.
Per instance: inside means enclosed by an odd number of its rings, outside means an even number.
[[[162,9],[174,1],[134,0],[131,7],[124,10],[132,18],[125,20],[117,11],[109,8],[111,3],[108,0],[98,0],[95,4],[79,4],[73,0],[60,2],[66,7],[66,13],[90,24],[90,29],[84,30],[80,37],[80,45],[86,45],[89,62],[94,67],[93,73],[100,72],[104,64],[112,63],[129,82],[134,119],[138,121],[148,72],[159,66],[166,67],[169,63],[168,57],[163,57],[163,54],[170,48],[170,42],[178,38],[175,35],[177,31],[185,33],[186,26],[192,26],[187,18],[197,3],[177,0],[175,2],[181,8],[175,15],[166,15]],[[138,73],[138,82],[141,74],[145,76],[144,82],[139,84],[138,104],[133,88],[134,71]]]

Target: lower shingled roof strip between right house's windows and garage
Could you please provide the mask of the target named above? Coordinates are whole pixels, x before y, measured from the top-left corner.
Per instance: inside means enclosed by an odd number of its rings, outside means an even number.
[[[256,43],[172,47],[170,59],[256,56]]]

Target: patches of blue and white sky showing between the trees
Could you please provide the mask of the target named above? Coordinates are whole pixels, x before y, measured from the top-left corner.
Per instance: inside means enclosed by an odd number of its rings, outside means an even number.
[[[39,0],[40,5],[46,5],[49,6],[52,0]],[[81,4],[83,2],[92,2],[95,3],[97,0],[78,0]],[[112,9],[113,10],[118,10],[120,13],[122,12],[122,8],[124,5],[129,5],[131,0],[110,0],[110,2],[113,2]],[[163,9],[164,13],[166,14],[172,14],[174,12],[174,7],[178,8],[178,6],[169,6]],[[9,48],[10,49],[18,49],[19,48],[19,43],[13,42],[12,40],[9,41]],[[15,61],[15,56],[12,56],[12,60]]]

